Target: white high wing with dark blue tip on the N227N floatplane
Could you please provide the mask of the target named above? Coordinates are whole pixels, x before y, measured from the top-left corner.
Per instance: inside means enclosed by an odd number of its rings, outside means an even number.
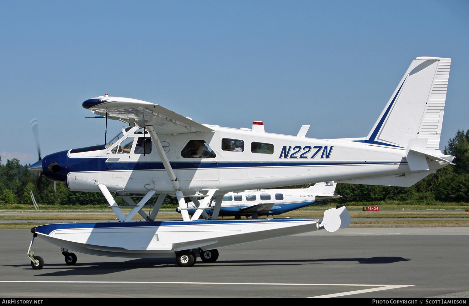
[[[95,97],[83,102],[83,107],[109,119],[121,120],[130,126],[153,126],[157,134],[212,132],[196,121],[150,102],[125,97]]]

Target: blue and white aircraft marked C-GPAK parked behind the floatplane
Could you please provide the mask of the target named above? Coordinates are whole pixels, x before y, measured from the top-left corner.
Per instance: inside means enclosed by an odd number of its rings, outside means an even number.
[[[305,206],[340,198],[340,195],[334,194],[336,186],[337,183],[334,182],[323,182],[299,189],[229,192],[223,195],[219,216],[234,216],[236,219],[240,219],[241,216],[251,216],[252,219],[257,219],[259,216],[280,215]],[[216,199],[212,198],[212,202],[214,201]],[[194,202],[188,203],[189,215],[194,215],[197,206]],[[178,207],[176,211],[181,212],[181,207]],[[213,209],[206,209],[206,212],[210,216],[213,214]]]

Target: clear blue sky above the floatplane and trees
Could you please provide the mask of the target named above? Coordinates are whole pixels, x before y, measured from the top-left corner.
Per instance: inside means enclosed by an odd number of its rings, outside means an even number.
[[[443,149],[468,129],[469,1],[1,1],[0,156],[104,143],[82,102],[132,97],[200,123],[364,137],[410,62],[452,58]],[[108,139],[123,123],[108,124]]]

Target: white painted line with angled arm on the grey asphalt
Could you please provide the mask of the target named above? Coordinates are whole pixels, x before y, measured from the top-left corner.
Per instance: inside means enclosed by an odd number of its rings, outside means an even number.
[[[213,282],[107,282],[107,281],[0,281],[0,283],[57,283],[57,284],[195,284],[195,285],[267,285],[267,286],[354,286],[354,287],[377,287],[355,291],[347,291],[320,295],[310,298],[333,298],[345,295],[359,294],[365,292],[382,291],[414,285],[385,285],[385,284],[295,284],[295,283],[213,283]]]

